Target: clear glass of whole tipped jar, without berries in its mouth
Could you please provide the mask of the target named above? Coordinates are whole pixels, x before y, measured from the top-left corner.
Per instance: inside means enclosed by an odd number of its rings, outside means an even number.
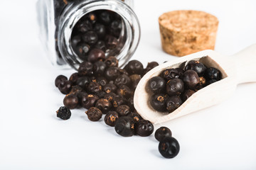
[[[53,65],[78,69],[83,61],[71,45],[73,29],[87,13],[98,10],[114,11],[122,18],[118,47],[107,50],[105,56],[115,56],[122,67],[137,49],[140,27],[132,10],[132,0],[38,0],[38,22],[41,41]]]

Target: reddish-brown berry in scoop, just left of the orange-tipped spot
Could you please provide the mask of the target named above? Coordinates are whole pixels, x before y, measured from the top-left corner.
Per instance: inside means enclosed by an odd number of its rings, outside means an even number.
[[[187,89],[195,90],[200,85],[198,74],[191,69],[183,73],[182,80]]]

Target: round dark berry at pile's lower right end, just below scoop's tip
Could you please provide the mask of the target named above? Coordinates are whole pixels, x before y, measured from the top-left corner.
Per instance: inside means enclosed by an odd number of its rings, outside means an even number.
[[[154,125],[149,120],[139,120],[135,126],[136,134],[147,137],[154,132]]]

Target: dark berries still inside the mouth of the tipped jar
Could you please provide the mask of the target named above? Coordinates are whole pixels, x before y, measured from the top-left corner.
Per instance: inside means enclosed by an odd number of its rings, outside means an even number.
[[[95,63],[122,48],[122,18],[113,11],[97,10],[80,18],[73,28],[71,46],[82,61]]]

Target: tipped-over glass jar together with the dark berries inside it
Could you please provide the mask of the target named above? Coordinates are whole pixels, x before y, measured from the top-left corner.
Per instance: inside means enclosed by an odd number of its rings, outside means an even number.
[[[60,68],[78,69],[81,62],[93,62],[97,55],[100,60],[114,56],[122,67],[134,54],[140,38],[132,3],[38,0],[41,40],[50,61]]]

